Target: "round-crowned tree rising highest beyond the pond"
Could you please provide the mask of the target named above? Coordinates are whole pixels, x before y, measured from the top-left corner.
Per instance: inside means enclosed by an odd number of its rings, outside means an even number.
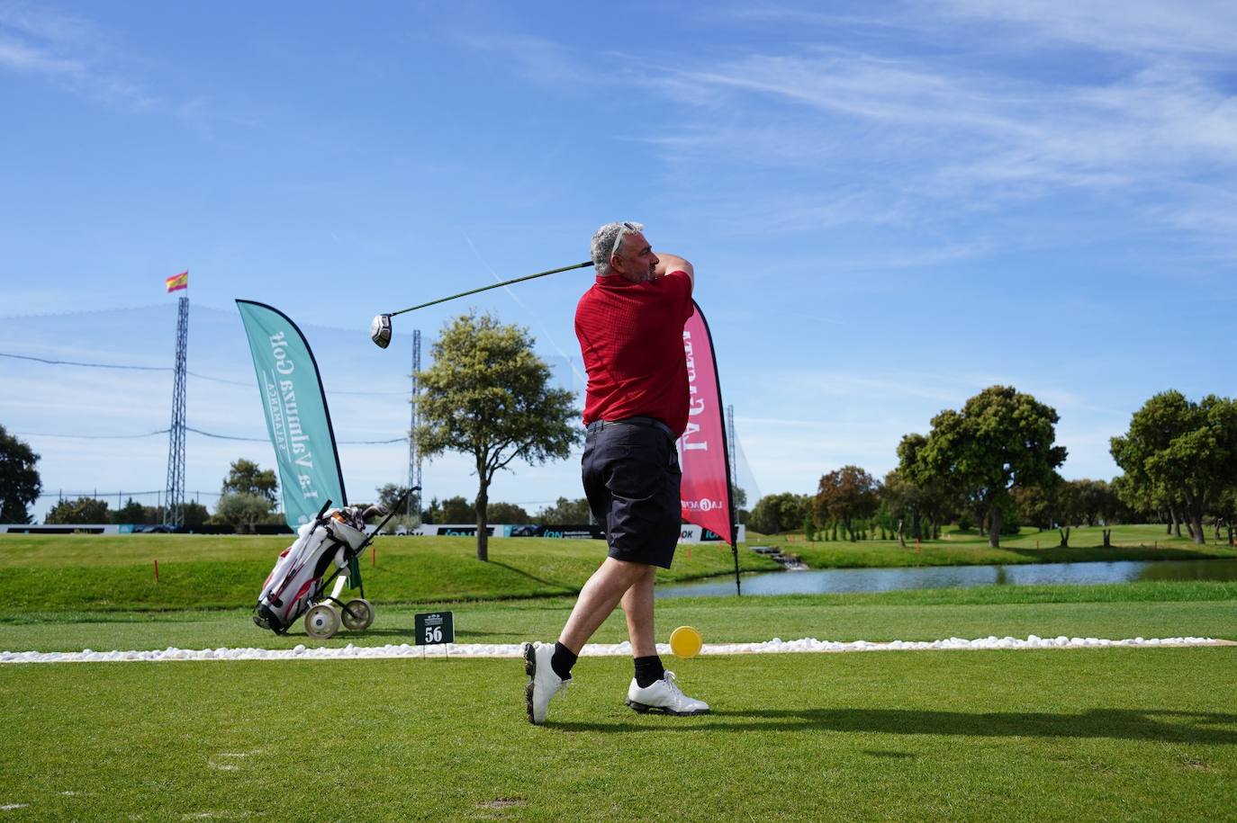
[[[928,475],[966,496],[988,521],[988,545],[1001,545],[1001,520],[1014,486],[1054,482],[1065,447],[1054,446],[1056,410],[1012,386],[991,386],[931,420],[919,454]]]

